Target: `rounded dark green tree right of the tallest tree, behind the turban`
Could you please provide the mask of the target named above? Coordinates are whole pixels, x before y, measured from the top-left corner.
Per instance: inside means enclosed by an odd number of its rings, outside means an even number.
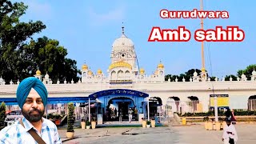
[[[47,37],[31,40],[29,44],[22,47],[23,66],[26,70],[40,70],[42,74],[49,74],[53,82],[64,81],[78,82],[77,62],[66,58],[67,50],[59,46],[59,42]]]

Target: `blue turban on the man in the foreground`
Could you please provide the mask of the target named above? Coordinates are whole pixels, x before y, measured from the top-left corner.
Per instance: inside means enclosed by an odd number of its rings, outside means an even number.
[[[16,92],[18,106],[20,108],[23,107],[27,96],[30,94],[31,88],[34,88],[34,90],[38,92],[38,94],[42,98],[43,106],[46,106],[48,97],[46,86],[44,86],[44,84],[38,78],[35,77],[25,78],[19,84]]]

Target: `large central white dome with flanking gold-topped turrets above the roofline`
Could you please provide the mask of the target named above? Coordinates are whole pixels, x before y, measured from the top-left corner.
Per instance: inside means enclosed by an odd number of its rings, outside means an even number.
[[[106,75],[102,74],[102,70],[98,70],[97,74],[94,74],[84,64],[82,66],[82,83],[110,82],[114,84],[121,81],[126,81],[127,83],[165,81],[165,70],[161,62],[152,75],[146,75],[143,68],[138,70],[134,42],[126,37],[124,31],[122,31],[121,37],[117,38],[112,45],[110,62]]]

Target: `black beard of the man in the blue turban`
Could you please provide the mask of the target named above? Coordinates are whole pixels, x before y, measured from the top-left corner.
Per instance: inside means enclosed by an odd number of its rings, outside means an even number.
[[[32,114],[34,111],[37,111],[38,114]],[[22,110],[22,115],[29,121],[29,122],[38,122],[42,119],[44,114],[44,110],[40,111],[38,109],[33,109],[28,112]]]

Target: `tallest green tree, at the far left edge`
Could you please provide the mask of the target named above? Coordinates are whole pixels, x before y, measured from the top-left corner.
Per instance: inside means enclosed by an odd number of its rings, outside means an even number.
[[[20,22],[19,18],[26,9],[23,2],[0,2],[0,74],[8,80],[18,78],[21,72],[17,69],[22,62],[19,47],[33,34],[46,28],[40,21]]]

